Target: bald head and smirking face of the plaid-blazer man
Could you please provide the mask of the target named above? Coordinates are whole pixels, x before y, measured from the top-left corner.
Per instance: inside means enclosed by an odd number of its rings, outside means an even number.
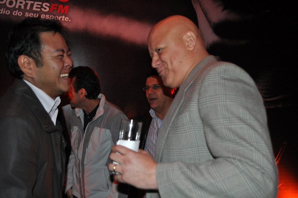
[[[190,71],[209,54],[195,24],[184,16],[170,16],[149,33],[152,67],[166,86],[179,87]]]

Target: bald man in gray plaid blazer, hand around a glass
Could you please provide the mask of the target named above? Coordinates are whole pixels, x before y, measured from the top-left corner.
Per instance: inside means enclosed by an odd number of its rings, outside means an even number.
[[[148,36],[152,67],[180,87],[157,136],[154,160],[114,146],[115,179],[146,197],[276,197],[277,168],[266,111],[252,78],[219,62],[188,18],[171,16]],[[154,192],[155,191],[155,192]]]

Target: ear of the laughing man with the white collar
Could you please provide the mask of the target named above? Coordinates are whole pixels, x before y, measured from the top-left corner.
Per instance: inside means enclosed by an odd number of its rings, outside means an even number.
[[[35,61],[32,58],[29,58],[26,55],[20,55],[18,57],[18,65],[26,76],[30,78],[35,77],[37,67],[36,67]]]

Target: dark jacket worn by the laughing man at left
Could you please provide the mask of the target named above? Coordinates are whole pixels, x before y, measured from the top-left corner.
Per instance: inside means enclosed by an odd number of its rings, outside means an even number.
[[[20,79],[0,98],[0,197],[62,197],[65,141]]]

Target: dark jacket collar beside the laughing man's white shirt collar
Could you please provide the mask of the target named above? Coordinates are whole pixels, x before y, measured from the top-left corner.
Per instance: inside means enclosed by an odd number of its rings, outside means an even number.
[[[15,94],[21,96],[36,117],[38,117],[45,132],[51,133],[58,130],[58,126],[54,125],[49,114],[46,112],[41,102],[27,83],[21,79],[15,79],[12,88],[15,90]]]

